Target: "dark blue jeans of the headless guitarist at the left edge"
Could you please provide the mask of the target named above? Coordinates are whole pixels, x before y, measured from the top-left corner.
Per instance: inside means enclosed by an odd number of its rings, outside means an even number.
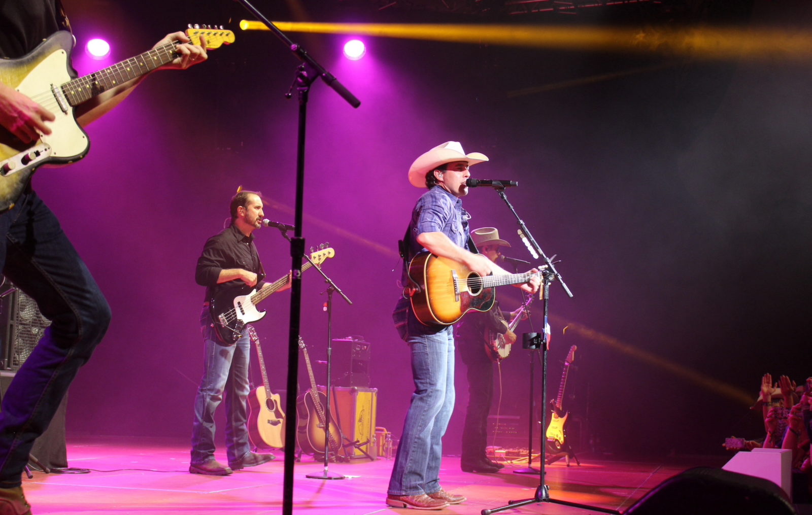
[[[0,215],[2,273],[31,296],[50,327],[15,374],[0,411],[0,487],[19,487],[41,435],[110,324],[110,306],[56,216],[27,192]]]

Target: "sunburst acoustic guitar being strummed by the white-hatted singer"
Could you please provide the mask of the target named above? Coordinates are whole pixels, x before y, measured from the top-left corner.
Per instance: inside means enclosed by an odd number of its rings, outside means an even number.
[[[471,309],[494,307],[495,287],[526,283],[538,273],[483,277],[462,263],[419,253],[409,263],[408,275],[412,285],[407,289],[417,320],[425,326],[449,326]]]

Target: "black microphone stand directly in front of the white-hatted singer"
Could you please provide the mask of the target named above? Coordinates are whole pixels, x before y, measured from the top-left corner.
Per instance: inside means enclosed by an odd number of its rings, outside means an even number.
[[[525,242],[525,245],[528,246],[528,249],[531,254],[533,254],[533,258],[541,257],[545,264],[546,268],[542,270],[542,305],[544,307],[544,330],[541,335],[536,333],[524,335],[523,344],[525,348],[533,348],[536,345],[542,351],[542,430],[540,440],[541,440],[541,451],[539,456],[539,466],[538,466],[538,487],[536,487],[535,495],[530,499],[523,499],[523,500],[509,500],[508,504],[505,506],[500,506],[499,508],[495,509],[483,509],[482,515],[490,515],[491,513],[498,513],[502,512],[506,509],[514,509],[519,508],[520,506],[525,506],[526,504],[533,504],[533,503],[555,503],[555,504],[564,504],[565,506],[572,506],[574,508],[581,508],[581,509],[589,509],[595,512],[602,512],[602,513],[613,513],[615,515],[620,515],[620,512],[615,509],[605,509],[605,508],[598,508],[596,506],[589,506],[587,504],[578,504],[572,503],[567,500],[559,500],[559,499],[552,499],[550,497],[550,487],[544,484],[544,465],[546,461],[546,445],[544,440],[546,439],[545,431],[546,431],[546,413],[547,413],[547,350],[549,347],[550,342],[550,335],[547,330],[547,320],[549,316],[550,310],[550,283],[552,283],[555,279],[559,280],[561,283],[561,287],[564,288],[564,292],[567,293],[569,297],[572,297],[572,292],[569,291],[567,285],[564,283],[564,279],[561,277],[559,272],[555,270],[555,265],[547,258],[542,248],[538,245],[535,239],[533,239],[533,235],[530,234],[525,222],[520,219],[519,214],[516,213],[516,210],[513,209],[512,204],[508,201],[508,197],[505,195],[504,188],[496,188],[496,193],[499,193],[499,197],[502,197],[502,200],[508,206],[508,209],[511,210],[514,216],[516,216],[516,221],[519,223],[519,235],[521,239]],[[531,368],[532,370],[532,368]],[[531,378],[532,381],[532,378]],[[532,427],[532,426],[531,426]]]

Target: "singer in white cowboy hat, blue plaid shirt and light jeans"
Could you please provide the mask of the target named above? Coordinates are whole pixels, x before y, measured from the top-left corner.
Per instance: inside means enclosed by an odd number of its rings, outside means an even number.
[[[507,274],[494,262],[469,246],[469,214],[461,198],[468,194],[465,181],[469,167],[487,161],[477,152],[465,154],[457,141],[430,149],[412,163],[408,180],[417,188],[429,188],[412,210],[412,219],[401,244],[404,287],[408,286],[408,262],[417,254],[434,255],[462,263],[481,275]],[[538,290],[538,276],[521,285]],[[443,509],[459,504],[440,487],[442,437],[454,409],[453,326],[425,326],[412,312],[410,299],[402,296],[392,314],[395,327],[409,344],[415,391],[409,405],[395,465],[387,490],[387,504],[395,508]]]

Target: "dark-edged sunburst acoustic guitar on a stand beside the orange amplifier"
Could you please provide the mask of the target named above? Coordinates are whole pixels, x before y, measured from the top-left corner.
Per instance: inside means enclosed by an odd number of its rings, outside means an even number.
[[[310,366],[310,357],[301,336],[299,337],[299,348],[304,353],[304,363],[310,376],[310,389],[296,399],[296,413],[299,416],[299,422],[296,426],[296,441],[299,443],[302,452],[306,454],[323,454],[327,448],[326,444],[329,442],[330,452],[338,458],[338,452],[341,448],[341,444],[339,444],[339,426],[336,425],[332,417],[330,417],[329,426],[326,424],[324,407],[327,405],[327,396],[319,392],[316,387],[313,367]],[[325,427],[328,428],[327,431],[325,431]]]

